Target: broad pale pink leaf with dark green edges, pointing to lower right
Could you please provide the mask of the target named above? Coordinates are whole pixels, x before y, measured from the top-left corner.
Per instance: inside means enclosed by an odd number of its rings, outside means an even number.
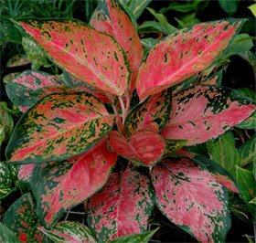
[[[212,174],[189,159],[156,165],[156,205],[170,221],[201,242],[224,242],[230,227],[228,194]]]

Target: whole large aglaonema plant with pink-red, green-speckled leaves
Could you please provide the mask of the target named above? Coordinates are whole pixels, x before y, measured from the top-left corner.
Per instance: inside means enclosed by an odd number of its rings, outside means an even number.
[[[18,178],[30,183],[35,232],[56,241],[146,241],[157,206],[198,241],[225,240],[225,187],[239,188],[218,164],[186,148],[223,134],[255,111],[239,92],[212,85],[215,77],[193,79],[214,65],[242,22],[177,30],[143,59],[130,16],[113,0],[100,2],[90,25],[15,20],[64,74],[59,79],[27,70],[5,87],[24,112],[5,154],[9,164],[20,165]],[[34,204],[31,194],[23,196]],[[85,201],[89,228],[59,222],[65,210]],[[17,202],[4,223],[20,239],[35,240],[32,227],[21,238],[14,226],[17,220],[27,226],[23,208]],[[10,219],[12,210],[18,219]]]

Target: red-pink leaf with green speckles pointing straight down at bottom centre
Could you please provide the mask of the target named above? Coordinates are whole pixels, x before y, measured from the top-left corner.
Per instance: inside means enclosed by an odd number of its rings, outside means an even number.
[[[153,210],[154,191],[148,177],[126,169],[113,173],[90,198],[88,222],[99,242],[144,233]]]

